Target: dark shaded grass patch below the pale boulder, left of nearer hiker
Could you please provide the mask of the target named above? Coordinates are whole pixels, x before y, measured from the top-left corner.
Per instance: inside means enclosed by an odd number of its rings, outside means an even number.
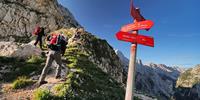
[[[29,59],[19,59],[10,57],[0,57],[0,64],[10,65],[10,72],[4,73],[2,81],[12,82],[19,76],[30,77],[30,74],[40,74],[44,67],[45,58],[32,56]]]

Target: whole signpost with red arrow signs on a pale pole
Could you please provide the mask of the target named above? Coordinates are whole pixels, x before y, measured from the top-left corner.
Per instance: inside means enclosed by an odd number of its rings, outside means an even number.
[[[135,62],[137,54],[137,44],[154,47],[154,39],[150,36],[144,36],[138,34],[139,30],[149,30],[153,26],[153,21],[146,20],[140,14],[139,9],[133,6],[133,0],[131,0],[131,16],[134,18],[134,23],[125,25],[119,32],[116,33],[118,40],[130,42],[130,61],[128,68],[127,86],[125,100],[133,100],[134,98],[134,85],[135,85]]]

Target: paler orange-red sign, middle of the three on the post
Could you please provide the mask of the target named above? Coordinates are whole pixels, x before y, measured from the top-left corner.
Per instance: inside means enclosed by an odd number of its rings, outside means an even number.
[[[130,31],[135,31],[135,30],[149,30],[153,26],[153,24],[154,23],[151,20],[135,22],[135,23],[123,26],[120,31],[130,32]]]

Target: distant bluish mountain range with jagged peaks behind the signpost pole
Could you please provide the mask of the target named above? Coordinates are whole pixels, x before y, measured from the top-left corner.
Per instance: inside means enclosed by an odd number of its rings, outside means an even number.
[[[127,75],[128,59],[120,51],[116,53],[124,64],[124,75]],[[161,100],[168,100],[173,96],[176,80],[182,71],[178,67],[163,64],[144,65],[141,60],[137,60],[136,90]]]

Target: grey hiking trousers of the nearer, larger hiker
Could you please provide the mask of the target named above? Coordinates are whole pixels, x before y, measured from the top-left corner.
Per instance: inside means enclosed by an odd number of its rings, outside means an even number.
[[[50,50],[48,55],[47,55],[47,60],[46,60],[46,64],[45,67],[42,70],[42,74],[39,78],[39,83],[44,81],[47,73],[48,73],[48,69],[49,67],[52,65],[53,61],[56,61],[56,63],[58,64],[57,68],[56,68],[56,75],[55,77],[60,77],[61,74],[61,68],[62,68],[62,61],[61,61],[61,53],[60,51],[53,51]]]

